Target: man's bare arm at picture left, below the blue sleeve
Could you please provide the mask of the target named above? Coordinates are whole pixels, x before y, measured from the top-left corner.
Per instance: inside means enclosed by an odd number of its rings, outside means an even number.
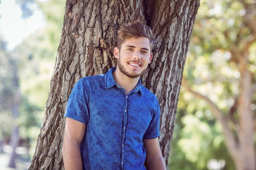
[[[85,124],[66,118],[62,147],[65,170],[82,170],[80,144],[84,138],[85,129]]]

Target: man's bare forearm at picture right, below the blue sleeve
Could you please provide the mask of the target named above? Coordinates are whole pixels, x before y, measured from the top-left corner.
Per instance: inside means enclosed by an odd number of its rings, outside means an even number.
[[[147,170],[166,170],[166,164],[163,159],[158,138],[143,139],[146,151],[145,166]]]

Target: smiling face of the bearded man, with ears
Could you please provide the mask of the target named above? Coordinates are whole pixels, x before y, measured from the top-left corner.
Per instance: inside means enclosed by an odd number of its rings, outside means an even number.
[[[130,38],[121,45],[121,50],[114,49],[118,58],[117,68],[127,77],[140,77],[151,62],[150,40],[146,37]]]

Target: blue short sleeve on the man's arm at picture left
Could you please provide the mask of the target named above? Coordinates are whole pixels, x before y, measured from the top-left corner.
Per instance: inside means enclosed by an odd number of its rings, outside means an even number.
[[[87,87],[82,79],[74,85],[72,92],[68,98],[66,113],[64,117],[68,117],[84,124],[88,123],[89,110]]]

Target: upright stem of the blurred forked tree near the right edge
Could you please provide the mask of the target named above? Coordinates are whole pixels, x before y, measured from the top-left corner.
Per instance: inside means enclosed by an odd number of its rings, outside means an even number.
[[[236,156],[238,162],[237,170],[255,170],[255,142],[253,113],[250,105],[253,101],[252,93],[252,74],[249,70],[240,71],[241,74],[241,93],[239,96],[238,114],[239,114],[239,156]]]

